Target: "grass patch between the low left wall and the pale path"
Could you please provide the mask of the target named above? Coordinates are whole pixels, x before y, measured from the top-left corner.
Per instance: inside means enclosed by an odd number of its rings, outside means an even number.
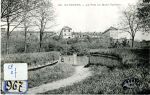
[[[58,63],[54,66],[48,66],[37,71],[29,71],[29,88],[67,78],[71,76],[73,72],[74,67],[72,65],[63,63]]]

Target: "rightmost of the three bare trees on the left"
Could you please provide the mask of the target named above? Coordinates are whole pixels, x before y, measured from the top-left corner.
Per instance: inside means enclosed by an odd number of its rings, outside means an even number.
[[[33,12],[33,16],[35,17],[34,24],[40,31],[39,51],[41,51],[44,31],[48,28],[47,25],[54,20],[54,11],[52,7],[52,3],[49,0],[44,0],[40,2],[40,7]]]

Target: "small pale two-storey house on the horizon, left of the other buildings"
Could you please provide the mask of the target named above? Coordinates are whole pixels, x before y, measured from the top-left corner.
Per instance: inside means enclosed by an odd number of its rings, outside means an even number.
[[[64,26],[61,29],[60,35],[61,35],[62,38],[65,38],[65,39],[67,39],[67,38],[68,39],[74,38],[72,28],[70,28],[68,26]]]

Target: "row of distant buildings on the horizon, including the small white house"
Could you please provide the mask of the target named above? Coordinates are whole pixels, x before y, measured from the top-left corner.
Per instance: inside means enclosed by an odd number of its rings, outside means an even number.
[[[112,43],[122,43],[123,41],[129,42],[127,39],[126,32],[122,32],[122,30],[117,29],[115,27],[110,27],[104,32],[74,32],[72,28],[68,26],[64,26],[61,29],[60,37],[63,39],[73,39],[77,38],[78,40],[87,40],[87,39],[98,39],[102,45],[111,46]]]

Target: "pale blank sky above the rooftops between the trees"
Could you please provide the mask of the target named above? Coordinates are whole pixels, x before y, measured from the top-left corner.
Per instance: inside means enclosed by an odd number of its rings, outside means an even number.
[[[56,29],[69,26],[76,32],[103,32],[115,26],[121,10],[137,0],[52,0]]]

